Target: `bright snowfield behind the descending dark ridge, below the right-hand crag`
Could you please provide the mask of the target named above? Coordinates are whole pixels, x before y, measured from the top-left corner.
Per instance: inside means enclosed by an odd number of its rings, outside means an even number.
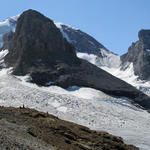
[[[141,90],[145,94],[150,96],[150,82],[138,79],[138,76],[134,74],[133,64],[129,63],[126,70],[120,69],[120,59],[119,56],[107,56],[102,58],[87,53],[77,53],[77,56],[81,59],[85,59],[90,63],[96,65],[97,67],[109,72],[115,77],[128,82],[129,84],[135,86],[137,89]],[[103,62],[103,63],[102,63]],[[110,65],[111,64],[111,65]]]

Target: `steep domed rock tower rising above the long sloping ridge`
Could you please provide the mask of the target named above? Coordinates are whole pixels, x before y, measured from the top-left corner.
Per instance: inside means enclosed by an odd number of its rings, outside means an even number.
[[[29,10],[18,19],[5,63],[14,68],[15,74],[26,74],[47,70],[49,64],[57,62],[77,63],[75,56],[74,47],[63,38],[53,21]]]

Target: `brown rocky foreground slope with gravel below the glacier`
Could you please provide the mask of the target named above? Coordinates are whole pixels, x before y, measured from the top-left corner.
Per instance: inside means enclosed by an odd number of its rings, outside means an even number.
[[[122,138],[27,108],[0,107],[1,150],[138,150]]]

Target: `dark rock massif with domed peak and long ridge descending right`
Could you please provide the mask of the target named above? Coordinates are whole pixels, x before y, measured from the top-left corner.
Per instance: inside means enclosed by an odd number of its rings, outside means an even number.
[[[148,96],[104,70],[76,57],[74,47],[63,38],[54,23],[34,10],[24,12],[5,58],[14,74],[30,74],[32,82],[52,82],[63,88],[85,86],[114,96],[125,96],[150,108]]]

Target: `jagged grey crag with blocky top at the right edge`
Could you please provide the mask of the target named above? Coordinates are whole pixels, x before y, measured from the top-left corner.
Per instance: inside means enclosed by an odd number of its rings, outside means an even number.
[[[150,30],[141,30],[139,41],[132,43],[128,53],[121,56],[122,68],[133,63],[134,73],[142,80],[150,80]]]

